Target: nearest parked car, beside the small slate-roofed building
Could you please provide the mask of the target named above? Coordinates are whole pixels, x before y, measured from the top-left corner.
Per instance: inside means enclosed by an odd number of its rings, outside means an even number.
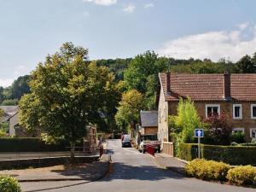
[[[147,145],[154,146],[154,152],[160,153],[160,141],[157,139],[157,135],[143,135],[141,136],[141,142],[138,145],[139,152],[143,154],[147,151]]]

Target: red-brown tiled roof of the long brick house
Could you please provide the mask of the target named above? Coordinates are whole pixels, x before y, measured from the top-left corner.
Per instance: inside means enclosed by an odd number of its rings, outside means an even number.
[[[171,94],[166,93],[166,73],[160,73],[166,101],[189,96],[193,101],[224,101],[224,74],[171,73]],[[256,101],[256,74],[230,74],[230,95],[234,101]]]

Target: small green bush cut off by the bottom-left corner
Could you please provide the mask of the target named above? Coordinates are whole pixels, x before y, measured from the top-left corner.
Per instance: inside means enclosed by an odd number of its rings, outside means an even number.
[[[1,192],[21,192],[20,184],[14,177],[0,176]]]

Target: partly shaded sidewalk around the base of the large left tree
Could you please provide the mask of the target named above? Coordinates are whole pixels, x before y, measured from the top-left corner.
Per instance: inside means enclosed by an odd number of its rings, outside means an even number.
[[[102,160],[79,166],[51,166],[25,170],[0,171],[0,175],[15,177],[19,182],[42,181],[94,181],[108,172],[109,157],[103,155]]]

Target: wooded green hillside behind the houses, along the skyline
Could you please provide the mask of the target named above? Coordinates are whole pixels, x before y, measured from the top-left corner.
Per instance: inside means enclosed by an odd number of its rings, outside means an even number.
[[[237,62],[219,59],[188,60],[160,57],[154,51],[146,51],[135,58],[96,60],[97,66],[108,67],[116,82],[124,81],[125,89],[137,89],[152,95],[157,84],[157,74],[170,70],[172,73],[256,73],[256,53],[245,55]],[[126,74],[126,76],[125,76]],[[153,78],[153,76],[154,78]],[[20,76],[7,88],[0,86],[0,105],[17,105],[20,97],[30,92],[29,75]],[[156,78],[156,79],[155,79]],[[137,82],[134,82],[137,81]],[[150,85],[151,84],[151,85]],[[154,87],[153,90],[152,86]],[[149,104],[149,108],[152,105]],[[154,105],[154,104],[153,104]]]

